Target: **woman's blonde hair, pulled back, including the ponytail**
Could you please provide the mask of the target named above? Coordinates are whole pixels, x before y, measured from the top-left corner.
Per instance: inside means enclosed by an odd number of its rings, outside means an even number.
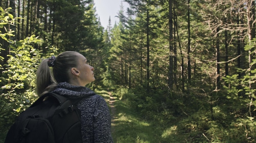
[[[54,61],[52,72],[44,59],[36,71],[36,93],[41,96],[56,89],[58,83],[69,82],[69,69],[76,67],[78,52],[67,51],[59,54]]]

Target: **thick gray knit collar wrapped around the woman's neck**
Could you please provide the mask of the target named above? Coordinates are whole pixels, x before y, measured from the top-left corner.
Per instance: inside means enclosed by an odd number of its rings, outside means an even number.
[[[63,95],[67,98],[84,98],[95,94],[94,91],[87,87],[74,86],[67,82],[59,83],[58,87],[52,92]]]

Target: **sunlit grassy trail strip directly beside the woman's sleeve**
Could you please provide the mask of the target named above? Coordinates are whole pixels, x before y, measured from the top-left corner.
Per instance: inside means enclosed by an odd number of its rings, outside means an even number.
[[[121,100],[114,104],[116,115],[112,120],[112,136],[115,143],[160,143],[153,124],[140,119]]]

